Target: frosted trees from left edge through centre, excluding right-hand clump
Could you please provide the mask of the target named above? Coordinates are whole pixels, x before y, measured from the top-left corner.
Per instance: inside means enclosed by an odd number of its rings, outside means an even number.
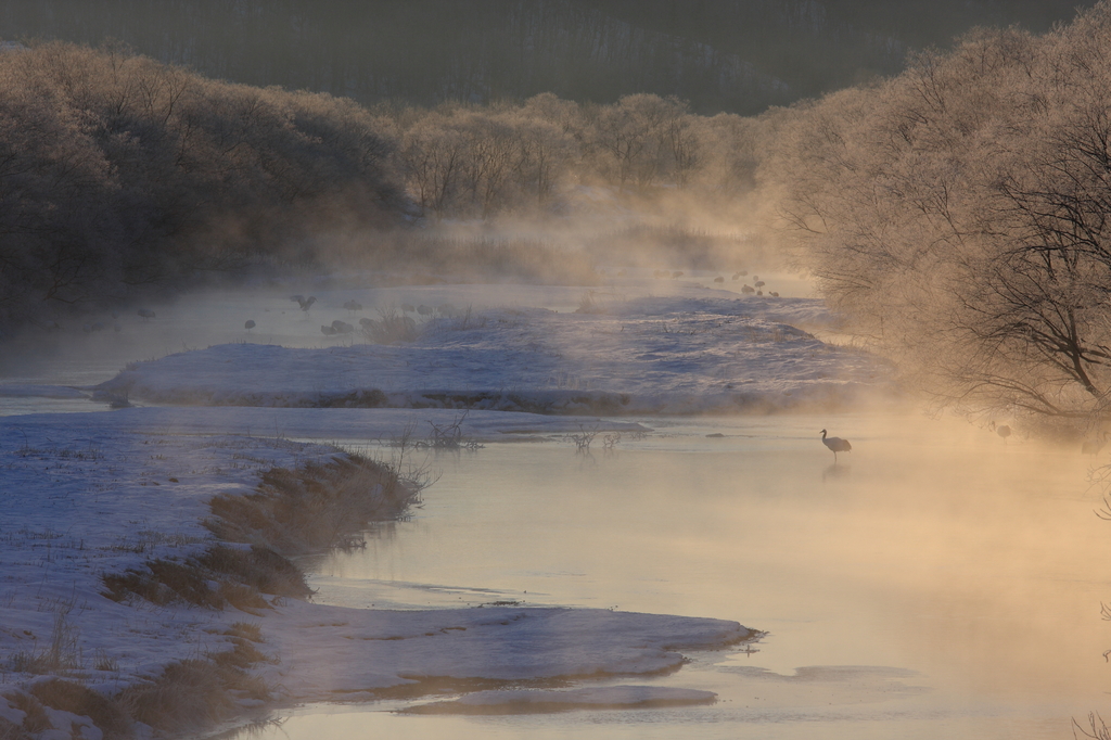
[[[484,256],[493,269],[553,279],[534,273],[554,261],[581,280],[582,261],[548,242],[493,248],[387,232],[558,218],[583,189],[623,208],[675,193],[728,203],[752,187],[760,130],[648,93],[609,106],[544,93],[368,109],[208,79],[118,46],[9,44],[0,50],[0,330],[207,276],[309,264],[326,259],[326,244],[333,260],[370,268],[457,264],[448,252],[460,252],[470,270]],[[714,249],[695,237],[700,250]]]

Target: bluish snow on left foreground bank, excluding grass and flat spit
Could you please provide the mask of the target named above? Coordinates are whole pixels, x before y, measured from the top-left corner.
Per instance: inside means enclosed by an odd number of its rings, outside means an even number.
[[[19,690],[54,676],[116,696],[150,684],[170,663],[231,649],[226,632],[249,618],[233,609],[117,602],[102,594],[103,573],[197,556],[212,544],[201,519],[213,494],[247,494],[261,471],[336,453],[272,438],[98,424],[110,416],[0,420],[0,694],[8,697],[0,717],[34,737],[78,720],[56,707],[51,724],[41,727]],[[0,734],[6,727],[0,722]],[[100,737],[96,728],[82,732]]]

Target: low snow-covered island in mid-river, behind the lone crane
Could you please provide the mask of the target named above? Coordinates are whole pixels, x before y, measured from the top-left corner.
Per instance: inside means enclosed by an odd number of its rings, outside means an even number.
[[[819,301],[610,298],[584,308],[436,319],[411,343],[352,333],[317,350],[221,344],[134,363],[96,390],[150,403],[607,416],[838,409],[895,392],[877,358],[790,323],[828,318]]]

